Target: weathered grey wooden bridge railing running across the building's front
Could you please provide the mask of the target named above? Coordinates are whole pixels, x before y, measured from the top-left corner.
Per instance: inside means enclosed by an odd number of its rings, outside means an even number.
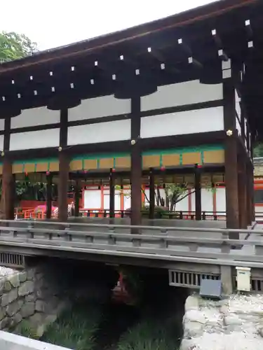
[[[0,221],[0,246],[263,267],[262,230]],[[231,234],[240,239],[231,239]],[[253,234],[253,236],[250,236]],[[247,249],[246,247],[249,247]],[[252,248],[252,249],[251,249]],[[43,252],[41,253],[43,255]]]

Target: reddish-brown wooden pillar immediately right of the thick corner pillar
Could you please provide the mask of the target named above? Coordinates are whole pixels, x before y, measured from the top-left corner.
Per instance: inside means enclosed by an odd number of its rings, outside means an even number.
[[[238,157],[238,208],[239,208],[239,227],[246,229],[248,227],[247,218],[247,181],[245,155]]]

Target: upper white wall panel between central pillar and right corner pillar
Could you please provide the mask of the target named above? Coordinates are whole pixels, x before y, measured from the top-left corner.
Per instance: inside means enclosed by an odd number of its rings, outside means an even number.
[[[159,86],[154,94],[142,97],[142,111],[184,106],[223,98],[222,84],[201,84],[199,80]]]

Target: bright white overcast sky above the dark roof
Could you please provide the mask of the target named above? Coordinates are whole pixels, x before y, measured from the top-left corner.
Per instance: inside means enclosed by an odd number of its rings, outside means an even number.
[[[93,38],[180,13],[211,0],[8,0],[0,31],[16,31],[39,50]]]

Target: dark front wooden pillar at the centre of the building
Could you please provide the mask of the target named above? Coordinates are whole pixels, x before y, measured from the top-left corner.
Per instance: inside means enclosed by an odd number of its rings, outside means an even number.
[[[142,216],[142,154],[140,150],[140,96],[131,99],[130,130],[130,181],[131,181],[131,225],[140,225]]]

